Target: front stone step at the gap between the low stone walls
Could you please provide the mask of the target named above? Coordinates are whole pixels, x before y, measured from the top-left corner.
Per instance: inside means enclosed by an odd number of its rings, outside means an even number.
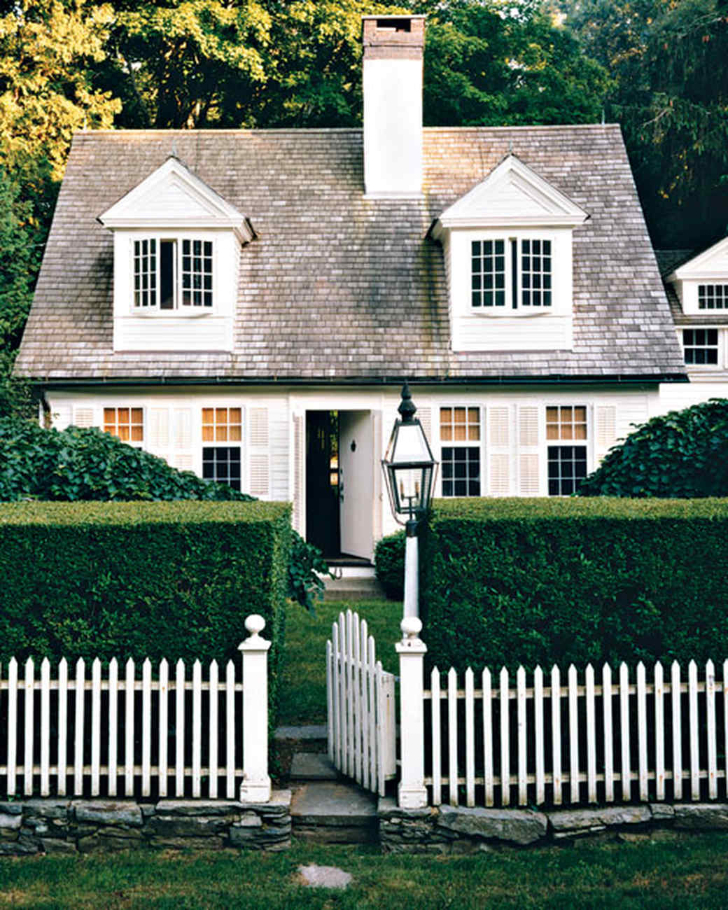
[[[302,784],[290,807],[293,834],[316,844],[374,844],[379,839],[377,797],[357,784]]]

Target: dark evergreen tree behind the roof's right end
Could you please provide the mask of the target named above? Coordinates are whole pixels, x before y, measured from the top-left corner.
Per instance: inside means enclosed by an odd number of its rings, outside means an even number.
[[[728,0],[567,0],[567,22],[614,76],[658,247],[695,248],[728,229]]]

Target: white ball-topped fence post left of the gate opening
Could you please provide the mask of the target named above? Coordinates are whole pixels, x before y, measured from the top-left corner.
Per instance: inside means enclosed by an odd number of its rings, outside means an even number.
[[[245,621],[249,637],[238,646],[243,654],[243,783],[241,803],[268,803],[268,648],[260,637],[266,626],[253,613]]]

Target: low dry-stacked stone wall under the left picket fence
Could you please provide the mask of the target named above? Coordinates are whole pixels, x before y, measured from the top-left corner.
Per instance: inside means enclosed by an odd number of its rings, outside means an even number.
[[[264,804],[59,798],[0,803],[0,855],[129,847],[284,850],[290,830],[289,790],[274,791]]]

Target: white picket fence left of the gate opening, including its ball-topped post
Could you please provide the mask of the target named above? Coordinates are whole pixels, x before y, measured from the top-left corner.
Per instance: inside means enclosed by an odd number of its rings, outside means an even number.
[[[30,659],[0,666],[0,793],[233,799],[242,782],[240,798],[252,789],[265,801],[264,625],[246,621],[242,679],[232,661],[224,674],[211,662],[205,679],[199,661],[170,672],[163,660],[153,672],[147,660],[141,679],[131,660],[106,671],[98,659],[90,668],[79,660],[72,676],[66,660],[53,676],[47,658],[39,675]]]

